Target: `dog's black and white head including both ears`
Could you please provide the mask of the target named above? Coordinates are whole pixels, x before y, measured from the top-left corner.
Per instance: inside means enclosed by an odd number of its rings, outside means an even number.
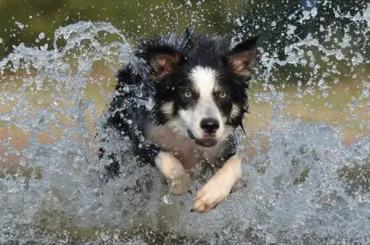
[[[156,88],[157,124],[213,146],[242,126],[257,38],[231,49],[230,41],[220,37],[187,32],[172,43],[170,39],[149,40],[137,53],[149,64]]]

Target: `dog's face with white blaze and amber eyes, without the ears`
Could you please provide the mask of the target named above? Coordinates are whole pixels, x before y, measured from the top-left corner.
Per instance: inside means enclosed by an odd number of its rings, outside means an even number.
[[[225,75],[222,70],[201,65],[185,72],[173,101],[175,117],[167,124],[194,137],[200,145],[213,146],[224,140],[231,133],[232,120],[242,117],[246,103],[245,89]],[[162,112],[172,112],[167,110],[171,104],[165,103]]]

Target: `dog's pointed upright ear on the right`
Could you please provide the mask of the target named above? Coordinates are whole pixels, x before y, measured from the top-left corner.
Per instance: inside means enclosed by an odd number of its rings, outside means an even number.
[[[252,68],[257,56],[257,39],[253,37],[236,45],[225,57],[228,68],[234,74],[252,77]]]

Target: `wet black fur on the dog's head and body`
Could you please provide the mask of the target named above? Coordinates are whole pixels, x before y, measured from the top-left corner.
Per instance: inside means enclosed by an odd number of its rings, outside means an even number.
[[[231,51],[228,38],[204,36],[191,33],[189,29],[182,36],[170,35],[144,40],[135,53],[139,58],[138,63],[128,64],[117,72],[116,95],[109,104],[108,120],[104,128],[114,128],[122,137],[128,136],[132,141],[134,153],[139,156],[139,162],[154,165],[160,147],[146,139],[146,128],[151,124],[164,125],[177,114],[178,110],[187,108],[197,101],[197,92],[189,86],[188,76],[190,69],[197,65],[218,71],[219,84],[228,96],[215,102],[222,114],[228,117],[229,126],[243,127],[242,121],[248,110],[246,90],[249,87],[249,77],[233,72],[236,69],[231,61],[234,61],[232,59],[236,59],[235,57],[238,58],[236,54],[243,52],[253,55],[256,39],[243,42]],[[248,57],[241,62],[243,70],[246,70],[244,73],[251,69],[252,61]],[[186,98],[181,95],[183,94],[181,92],[187,90],[194,96]],[[213,96],[217,97],[219,94]],[[149,97],[154,100],[153,110],[148,110],[143,104]],[[173,115],[167,115],[161,110],[161,105],[165,102],[173,102]],[[233,103],[237,105],[239,111],[237,115],[231,117]],[[235,154],[237,146],[232,135],[223,145],[220,159],[226,160]],[[105,151],[101,148],[100,159]],[[106,167],[109,176],[119,174],[121,164],[117,160],[119,153],[109,154],[109,159],[112,160]]]

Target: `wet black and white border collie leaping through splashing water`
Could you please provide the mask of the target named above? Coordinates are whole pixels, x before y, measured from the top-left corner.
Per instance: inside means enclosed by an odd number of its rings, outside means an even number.
[[[257,37],[233,48],[231,39],[192,33],[145,40],[135,61],[117,72],[116,94],[105,128],[129,138],[140,163],[149,163],[173,194],[189,192],[190,177],[212,167],[193,211],[208,211],[229,195],[241,176],[235,129],[243,128],[246,90],[253,75]],[[108,141],[109,139],[105,139]],[[117,175],[119,152],[110,152]]]

